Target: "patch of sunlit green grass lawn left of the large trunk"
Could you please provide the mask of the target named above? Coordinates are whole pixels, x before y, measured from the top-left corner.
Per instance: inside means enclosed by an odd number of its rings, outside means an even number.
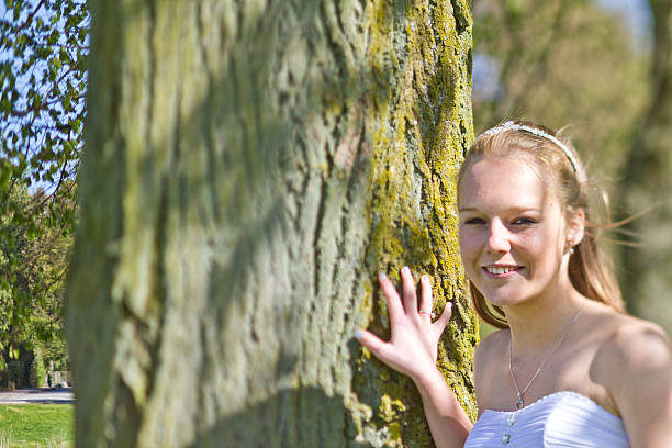
[[[71,447],[71,404],[0,405],[0,448]]]

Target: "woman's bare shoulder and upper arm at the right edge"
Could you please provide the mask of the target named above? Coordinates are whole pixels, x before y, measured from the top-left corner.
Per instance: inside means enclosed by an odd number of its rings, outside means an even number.
[[[632,446],[672,446],[672,344],[656,324],[611,320],[596,361]]]

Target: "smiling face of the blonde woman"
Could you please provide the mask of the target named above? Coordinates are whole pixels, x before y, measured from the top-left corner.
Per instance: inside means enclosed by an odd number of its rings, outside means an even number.
[[[507,306],[569,287],[561,204],[529,157],[481,158],[459,184],[459,239],[467,276],[493,305]],[[574,244],[578,242],[573,242]]]

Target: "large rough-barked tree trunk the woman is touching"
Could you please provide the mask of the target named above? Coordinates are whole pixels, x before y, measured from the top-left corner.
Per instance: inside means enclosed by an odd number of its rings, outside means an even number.
[[[377,273],[456,302],[440,367],[472,417],[457,245],[467,0],[91,2],[67,323],[78,446],[430,446]]]

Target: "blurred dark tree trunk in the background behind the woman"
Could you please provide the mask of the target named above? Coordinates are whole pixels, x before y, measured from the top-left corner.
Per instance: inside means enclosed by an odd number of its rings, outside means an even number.
[[[625,247],[624,295],[631,311],[672,334],[672,0],[651,0],[654,16],[651,107],[624,167],[620,197],[641,244]]]

